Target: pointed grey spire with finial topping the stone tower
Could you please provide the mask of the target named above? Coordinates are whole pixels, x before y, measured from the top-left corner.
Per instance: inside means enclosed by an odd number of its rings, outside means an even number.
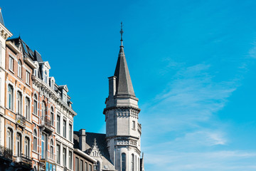
[[[127,61],[124,55],[124,46],[122,44],[122,23],[121,23],[121,46],[119,50],[119,56],[117,60],[117,66],[114,71],[114,76],[117,77],[117,91],[116,95],[133,95],[135,96],[134,89],[132,86],[132,80],[129,75],[129,69],[127,66]]]

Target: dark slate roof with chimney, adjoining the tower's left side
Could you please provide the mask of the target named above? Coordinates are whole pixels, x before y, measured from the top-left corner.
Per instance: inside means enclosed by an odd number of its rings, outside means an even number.
[[[79,131],[74,131],[74,148],[79,149]],[[86,145],[85,145],[85,153],[90,155],[90,150],[94,145],[94,140],[96,139],[97,147],[100,150],[100,154],[102,155],[102,169],[107,166],[105,170],[115,170],[114,165],[110,160],[110,153],[107,150],[107,142],[105,141],[106,134],[100,133],[86,133]]]

